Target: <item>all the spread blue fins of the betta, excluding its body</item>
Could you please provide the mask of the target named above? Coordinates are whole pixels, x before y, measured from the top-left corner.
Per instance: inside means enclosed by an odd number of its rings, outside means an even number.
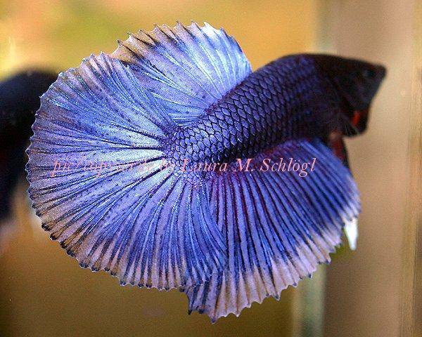
[[[328,262],[345,224],[357,235],[359,197],[319,140],[288,141],[255,158],[315,157],[306,178],[161,167],[179,159],[169,146],[176,132],[250,72],[223,29],[193,22],[129,34],[112,55],[60,74],[41,98],[27,150],[30,197],[51,239],[121,284],[184,291],[189,311],[213,322],[279,298]]]

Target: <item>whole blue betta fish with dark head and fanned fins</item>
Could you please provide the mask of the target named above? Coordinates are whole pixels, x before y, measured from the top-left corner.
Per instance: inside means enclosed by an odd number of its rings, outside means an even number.
[[[180,289],[215,322],[279,298],[355,234],[342,139],[366,128],[382,66],[300,54],[252,72],[233,37],[195,22],[118,43],[59,75],[27,150],[42,226],[82,267]]]

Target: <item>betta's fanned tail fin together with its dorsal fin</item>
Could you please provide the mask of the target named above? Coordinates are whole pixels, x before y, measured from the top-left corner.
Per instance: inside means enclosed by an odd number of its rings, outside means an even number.
[[[30,197],[51,238],[122,284],[186,287],[222,270],[207,184],[161,163],[175,128],[249,73],[233,38],[193,23],[132,34],[113,58],[60,74],[27,150]]]

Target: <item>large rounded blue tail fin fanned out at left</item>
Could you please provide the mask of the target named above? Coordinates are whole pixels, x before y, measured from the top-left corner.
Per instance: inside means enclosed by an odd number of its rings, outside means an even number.
[[[51,238],[122,284],[170,289],[222,269],[222,234],[194,173],[162,169],[177,124],[120,60],[91,56],[41,98],[30,197]]]

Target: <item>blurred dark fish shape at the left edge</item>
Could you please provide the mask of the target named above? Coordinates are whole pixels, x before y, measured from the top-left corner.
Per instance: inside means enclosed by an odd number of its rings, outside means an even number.
[[[25,149],[39,109],[39,97],[57,74],[28,70],[0,82],[0,221],[11,212],[11,195],[25,177]]]

